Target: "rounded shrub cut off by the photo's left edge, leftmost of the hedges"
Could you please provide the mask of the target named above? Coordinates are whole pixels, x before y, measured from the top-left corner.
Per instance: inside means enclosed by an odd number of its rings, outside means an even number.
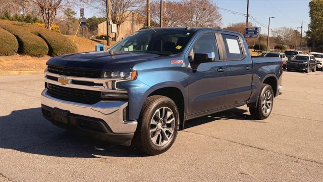
[[[11,56],[18,51],[18,41],[16,37],[0,28],[0,56]]]

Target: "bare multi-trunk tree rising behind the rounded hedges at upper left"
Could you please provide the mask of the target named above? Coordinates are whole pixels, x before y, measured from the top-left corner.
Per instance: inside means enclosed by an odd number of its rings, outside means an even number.
[[[32,0],[40,9],[45,28],[51,28],[57,11],[62,7],[63,0]]]

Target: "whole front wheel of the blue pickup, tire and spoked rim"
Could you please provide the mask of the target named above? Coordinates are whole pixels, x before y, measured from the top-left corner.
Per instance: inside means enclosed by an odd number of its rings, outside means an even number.
[[[179,112],[173,100],[151,96],[145,101],[133,144],[142,152],[158,155],[170,149],[179,129]]]

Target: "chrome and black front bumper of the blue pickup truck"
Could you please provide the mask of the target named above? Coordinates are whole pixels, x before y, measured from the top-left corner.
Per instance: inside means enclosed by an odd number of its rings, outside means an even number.
[[[81,104],[64,101],[47,95],[47,89],[41,94],[42,112],[46,119],[64,128],[76,128],[94,138],[122,145],[130,145],[137,128],[137,121],[124,121],[123,114],[127,101],[100,101],[96,104]],[[68,122],[59,122],[53,118],[53,109],[68,111]]]

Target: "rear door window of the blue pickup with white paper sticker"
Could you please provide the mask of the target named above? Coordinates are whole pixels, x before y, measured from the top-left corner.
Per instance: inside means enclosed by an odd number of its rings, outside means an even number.
[[[222,34],[222,38],[226,48],[227,60],[237,60],[244,56],[238,36]]]

